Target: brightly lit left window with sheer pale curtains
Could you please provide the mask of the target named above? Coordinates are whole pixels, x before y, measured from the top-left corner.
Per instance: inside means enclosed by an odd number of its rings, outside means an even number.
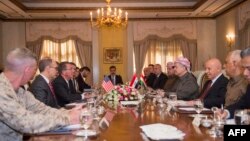
[[[76,53],[74,40],[68,40],[61,43],[44,40],[41,58],[43,57],[51,57],[58,62],[74,62],[76,66],[81,67]]]

